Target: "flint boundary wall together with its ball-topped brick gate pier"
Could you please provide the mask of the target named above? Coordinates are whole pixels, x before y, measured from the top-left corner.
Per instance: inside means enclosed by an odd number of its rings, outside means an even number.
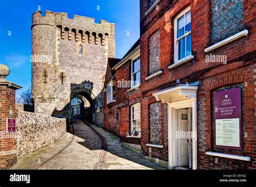
[[[15,91],[22,87],[6,80],[9,74],[9,68],[0,64],[0,169],[9,169],[18,159],[51,145],[66,133],[65,118],[16,109]]]

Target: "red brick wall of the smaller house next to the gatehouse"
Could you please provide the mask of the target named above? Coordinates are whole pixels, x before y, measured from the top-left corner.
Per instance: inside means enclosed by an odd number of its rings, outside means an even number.
[[[106,104],[106,92],[104,93],[104,128],[119,136],[120,140],[127,143],[140,145],[140,138],[129,138],[131,135],[131,105],[140,103],[140,88],[132,91],[129,84],[122,85],[122,81],[130,81],[131,60],[127,60],[116,70],[115,87],[116,102]],[[119,112],[119,121],[116,121],[116,112]]]

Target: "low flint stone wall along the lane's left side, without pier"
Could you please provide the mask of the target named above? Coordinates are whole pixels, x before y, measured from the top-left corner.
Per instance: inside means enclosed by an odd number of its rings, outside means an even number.
[[[18,159],[21,159],[62,138],[66,119],[18,111],[16,131]]]

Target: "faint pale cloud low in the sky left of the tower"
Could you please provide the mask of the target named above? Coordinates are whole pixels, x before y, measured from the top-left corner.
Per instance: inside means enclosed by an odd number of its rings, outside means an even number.
[[[30,57],[17,53],[10,53],[4,57],[4,62],[8,64],[9,68],[19,68],[25,63],[30,63]]]

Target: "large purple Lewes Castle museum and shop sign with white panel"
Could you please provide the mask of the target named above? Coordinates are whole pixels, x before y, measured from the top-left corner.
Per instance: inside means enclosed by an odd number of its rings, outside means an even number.
[[[241,88],[213,93],[215,147],[242,149]]]

